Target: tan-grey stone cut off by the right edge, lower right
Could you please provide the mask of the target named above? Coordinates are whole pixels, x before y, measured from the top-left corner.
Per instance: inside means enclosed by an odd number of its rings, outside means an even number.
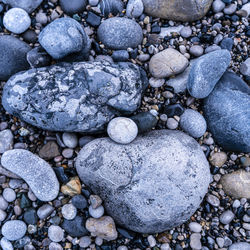
[[[223,175],[220,183],[224,192],[234,198],[250,199],[250,173],[238,170],[230,174]]]

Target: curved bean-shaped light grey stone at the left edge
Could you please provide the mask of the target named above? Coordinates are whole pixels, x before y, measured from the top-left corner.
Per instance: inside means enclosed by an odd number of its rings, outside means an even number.
[[[35,196],[41,201],[55,199],[59,192],[59,183],[50,165],[24,149],[6,151],[1,164],[27,182]]]

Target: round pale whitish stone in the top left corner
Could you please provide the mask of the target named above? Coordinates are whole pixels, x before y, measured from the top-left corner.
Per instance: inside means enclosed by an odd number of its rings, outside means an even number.
[[[8,10],[3,17],[4,27],[15,34],[23,33],[29,28],[30,24],[31,19],[28,13],[20,8]]]

